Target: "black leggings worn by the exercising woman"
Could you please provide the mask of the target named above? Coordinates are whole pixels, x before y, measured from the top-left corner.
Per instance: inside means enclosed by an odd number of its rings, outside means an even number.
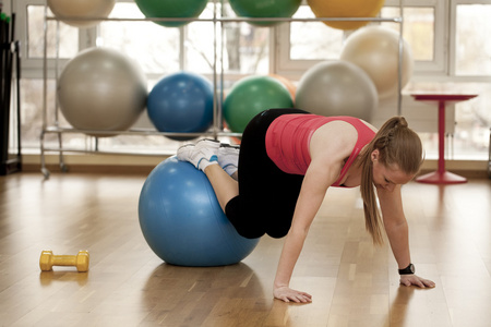
[[[299,109],[270,109],[255,116],[242,134],[239,155],[239,195],[225,213],[244,238],[288,233],[303,175],[283,172],[266,154],[266,131],[282,114],[309,113]]]

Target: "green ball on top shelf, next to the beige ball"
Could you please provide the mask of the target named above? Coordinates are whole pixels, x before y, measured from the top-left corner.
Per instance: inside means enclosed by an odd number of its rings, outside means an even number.
[[[135,0],[142,13],[148,19],[194,19],[197,17],[207,0]],[[179,27],[189,23],[183,22],[155,22],[167,27]]]

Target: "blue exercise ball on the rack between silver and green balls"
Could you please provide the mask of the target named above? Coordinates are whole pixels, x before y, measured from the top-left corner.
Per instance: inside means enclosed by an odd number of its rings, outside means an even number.
[[[213,87],[197,74],[175,73],[152,88],[146,107],[152,123],[160,132],[205,132],[213,123]]]

